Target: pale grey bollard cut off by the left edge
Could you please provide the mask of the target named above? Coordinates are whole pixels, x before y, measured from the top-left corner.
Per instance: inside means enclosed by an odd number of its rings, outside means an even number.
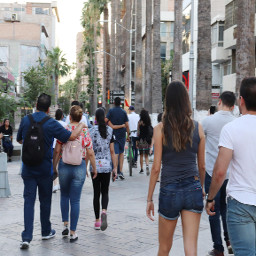
[[[0,197],[9,197],[11,195],[8,172],[7,172],[7,154],[0,153]]]

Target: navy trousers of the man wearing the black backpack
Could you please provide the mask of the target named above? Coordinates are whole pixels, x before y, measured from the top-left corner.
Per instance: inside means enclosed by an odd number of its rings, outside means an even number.
[[[24,226],[22,241],[30,242],[33,238],[34,206],[38,187],[40,201],[41,234],[47,236],[51,232],[51,203],[52,203],[52,176],[27,177],[22,176],[24,182]]]

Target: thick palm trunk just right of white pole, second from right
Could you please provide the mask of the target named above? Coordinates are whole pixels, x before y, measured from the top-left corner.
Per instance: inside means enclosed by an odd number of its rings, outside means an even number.
[[[196,109],[207,110],[212,104],[211,0],[198,1]]]

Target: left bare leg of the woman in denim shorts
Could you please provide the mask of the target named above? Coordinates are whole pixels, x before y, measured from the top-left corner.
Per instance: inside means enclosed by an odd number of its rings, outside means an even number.
[[[168,256],[172,248],[173,234],[178,220],[166,220],[159,216],[158,256]]]

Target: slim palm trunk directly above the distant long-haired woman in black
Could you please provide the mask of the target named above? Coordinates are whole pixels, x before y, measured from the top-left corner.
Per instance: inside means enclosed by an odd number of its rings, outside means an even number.
[[[146,3],[145,109],[152,113],[152,0]]]

